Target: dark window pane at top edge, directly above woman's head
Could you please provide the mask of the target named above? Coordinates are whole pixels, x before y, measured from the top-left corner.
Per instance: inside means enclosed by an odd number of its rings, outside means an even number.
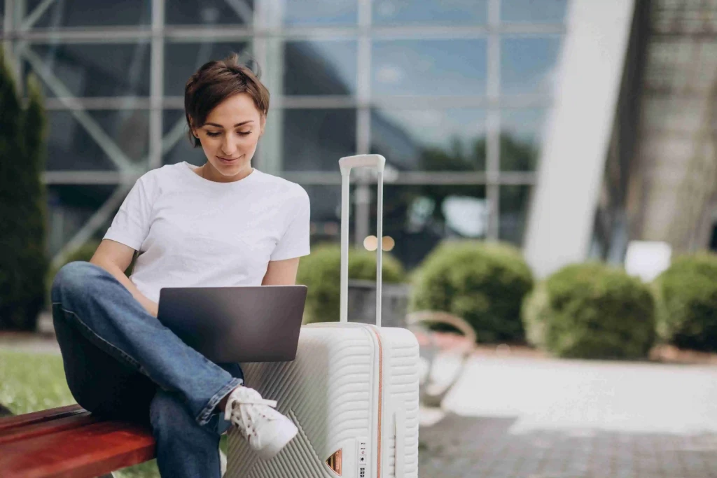
[[[253,0],[166,0],[165,21],[168,25],[251,25]]]

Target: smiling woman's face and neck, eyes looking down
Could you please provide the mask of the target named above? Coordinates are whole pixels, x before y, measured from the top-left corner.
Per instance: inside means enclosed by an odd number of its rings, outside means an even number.
[[[265,121],[247,93],[219,103],[206,117],[204,125],[192,130],[209,161],[203,176],[212,181],[230,182],[251,173],[252,157]]]

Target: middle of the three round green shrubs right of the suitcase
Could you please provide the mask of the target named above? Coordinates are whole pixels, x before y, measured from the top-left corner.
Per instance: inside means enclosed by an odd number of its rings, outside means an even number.
[[[647,285],[605,264],[573,264],[526,298],[528,341],[558,357],[644,358],[655,342]]]

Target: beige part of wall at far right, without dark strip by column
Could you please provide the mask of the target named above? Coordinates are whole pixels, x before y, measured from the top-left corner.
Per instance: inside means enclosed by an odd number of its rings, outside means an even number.
[[[717,212],[717,6],[652,1],[632,237],[709,247]]]

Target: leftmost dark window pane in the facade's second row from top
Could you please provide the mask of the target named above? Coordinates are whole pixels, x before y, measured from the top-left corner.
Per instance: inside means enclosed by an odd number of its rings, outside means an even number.
[[[34,44],[32,52],[42,58],[50,75],[75,97],[149,95],[148,42]],[[26,63],[25,72],[31,71]],[[43,81],[44,94],[57,96],[50,86]]]

